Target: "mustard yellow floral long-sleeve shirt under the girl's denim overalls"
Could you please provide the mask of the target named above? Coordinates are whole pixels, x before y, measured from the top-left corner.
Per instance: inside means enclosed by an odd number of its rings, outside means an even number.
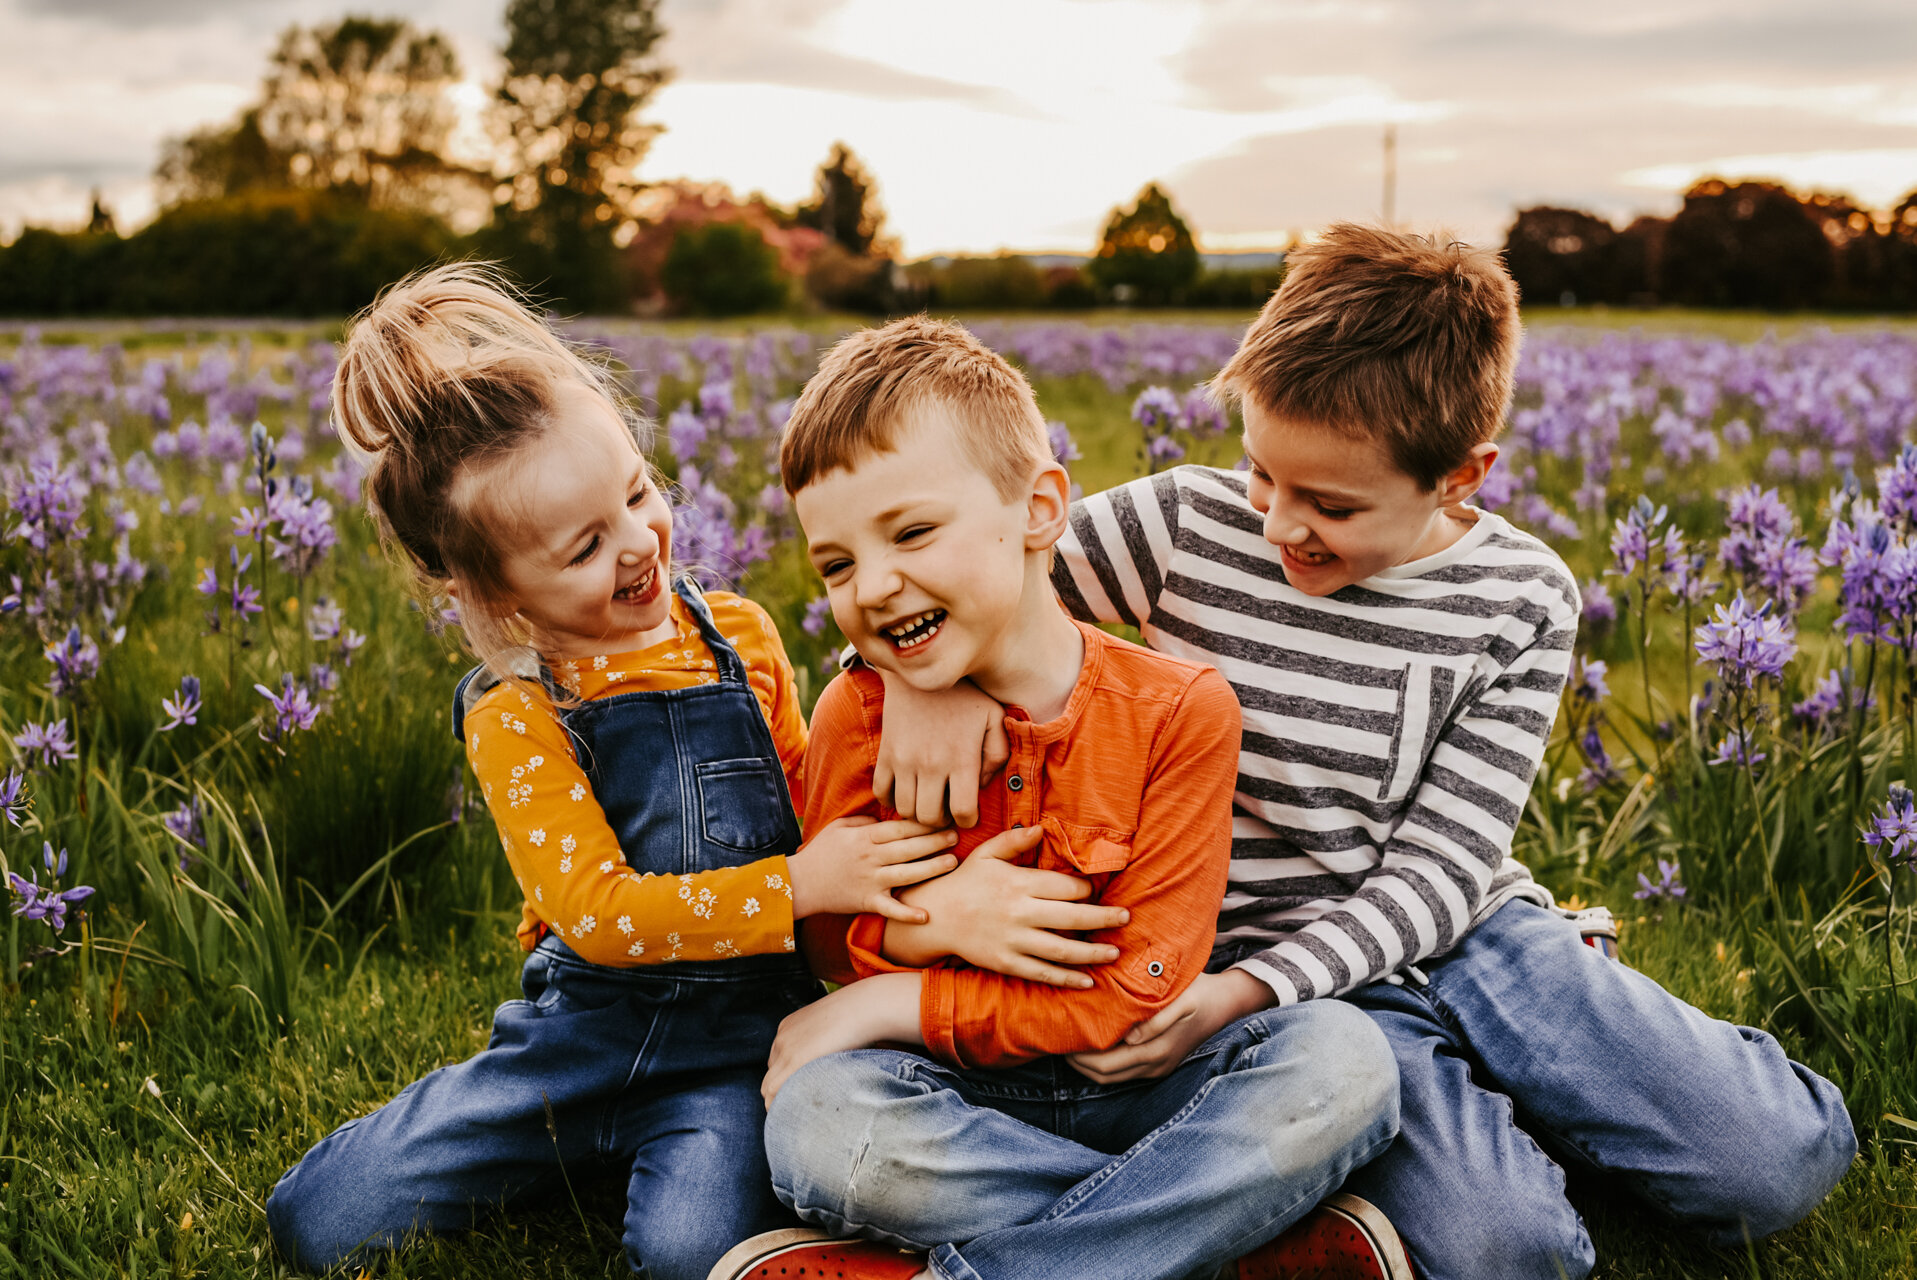
[[[705,604],[746,663],[794,807],[803,805],[805,717],[792,663],[765,609],[730,592]],[[679,634],[646,650],[560,663],[554,676],[585,699],[715,684],[719,665],[686,604],[673,596]],[[625,864],[592,797],[571,738],[544,690],[498,684],[466,713],[466,759],[485,795],[512,874],[525,893],[520,945],[548,931],[592,964],[723,960],[794,949],[792,876],[784,857],[692,876]]]

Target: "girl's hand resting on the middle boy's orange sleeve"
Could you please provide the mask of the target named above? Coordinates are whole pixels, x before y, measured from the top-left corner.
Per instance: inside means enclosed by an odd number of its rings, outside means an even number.
[[[943,876],[958,866],[947,853],[958,832],[918,822],[838,818],[786,858],[792,872],[792,916],[878,912],[888,920],[922,924],[926,912],[891,897],[893,889]]]

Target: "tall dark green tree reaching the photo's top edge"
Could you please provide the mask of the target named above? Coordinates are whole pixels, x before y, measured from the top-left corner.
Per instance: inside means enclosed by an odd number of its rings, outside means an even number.
[[[667,79],[658,0],[510,0],[489,249],[575,307],[625,301],[617,243],[635,226],[640,119]]]

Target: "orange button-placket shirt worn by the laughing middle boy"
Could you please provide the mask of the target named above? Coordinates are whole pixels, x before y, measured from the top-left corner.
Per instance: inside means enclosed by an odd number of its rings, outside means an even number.
[[[1068,991],[943,960],[924,970],[926,1046],[960,1067],[1006,1067],[1116,1044],[1204,971],[1231,860],[1238,778],[1238,699],[1212,667],[1167,657],[1077,623],[1085,665],[1064,715],[1033,724],[1006,709],[1012,757],[980,789],[980,820],[958,834],[964,858],[1012,826],[1043,826],[1024,862],[1083,876],[1091,901],[1131,922],[1089,933],[1118,960]],[[895,818],[872,797],[884,684],[842,673],[813,709],[805,830],[847,814]],[[801,939],[832,981],[911,971],[880,954],[882,916],[815,916]]]

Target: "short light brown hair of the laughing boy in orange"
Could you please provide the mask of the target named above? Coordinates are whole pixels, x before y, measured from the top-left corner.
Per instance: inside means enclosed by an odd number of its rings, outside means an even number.
[[[960,446],[1006,502],[1051,460],[1045,418],[1020,372],[957,324],[907,316],[851,333],[819,362],[778,446],[786,492],[889,452],[899,423],[932,402],[953,410]]]

